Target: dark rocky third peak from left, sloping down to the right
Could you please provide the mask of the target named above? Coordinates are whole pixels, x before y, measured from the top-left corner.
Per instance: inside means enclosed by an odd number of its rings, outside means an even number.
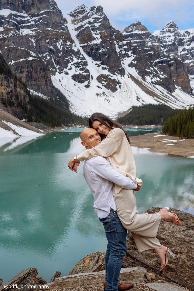
[[[134,67],[144,80],[162,86],[171,93],[177,86],[191,94],[190,81],[183,62],[166,55],[158,40],[141,22],[134,22],[125,28],[123,35],[125,41],[118,41],[118,47],[130,47],[131,56],[134,58],[128,65]],[[123,54],[122,58],[126,55]]]

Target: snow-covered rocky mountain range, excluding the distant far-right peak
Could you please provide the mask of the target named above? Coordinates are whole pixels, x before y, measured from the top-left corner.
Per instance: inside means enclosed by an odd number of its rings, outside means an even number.
[[[101,6],[62,15],[53,0],[14,3],[0,2],[0,50],[33,93],[54,98],[56,87],[72,112],[87,116],[115,117],[147,103],[194,104],[186,60],[168,54],[140,22],[121,33]]]

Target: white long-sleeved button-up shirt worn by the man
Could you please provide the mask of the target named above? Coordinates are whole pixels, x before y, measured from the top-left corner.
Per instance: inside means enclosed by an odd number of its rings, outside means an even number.
[[[100,156],[84,162],[83,176],[94,196],[94,210],[98,218],[107,217],[111,208],[117,210],[113,198],[113,183],[128,190],[137,188],[135,182],[119,173]]]

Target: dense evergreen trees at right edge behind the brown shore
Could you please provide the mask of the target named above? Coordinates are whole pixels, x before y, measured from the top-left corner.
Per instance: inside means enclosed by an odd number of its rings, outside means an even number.
[[[175,116],[169,117],[163,124],[162,133],[194,138],[194,107],[181,110]]]

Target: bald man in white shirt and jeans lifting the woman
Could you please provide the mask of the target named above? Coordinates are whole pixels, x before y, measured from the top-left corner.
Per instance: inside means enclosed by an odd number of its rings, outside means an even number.
[[[80,138],[81,144],[86,149],[97,146],[101,142],[99,134],[93,128],[84,129],[80,134]],[[140,186],[116,171],[104,157],[100,156],[84,162],[83,175],[94,196],[94,210],[99,220],[103,223],[108,240],[105,256],[106,277],[104,290],[131,289],[133,288],[132,284],[118,281],[123,256],[127,250],[127,230],[122,226],[116,212],[113,183],[122,188],[136,191],[140,190]]]

